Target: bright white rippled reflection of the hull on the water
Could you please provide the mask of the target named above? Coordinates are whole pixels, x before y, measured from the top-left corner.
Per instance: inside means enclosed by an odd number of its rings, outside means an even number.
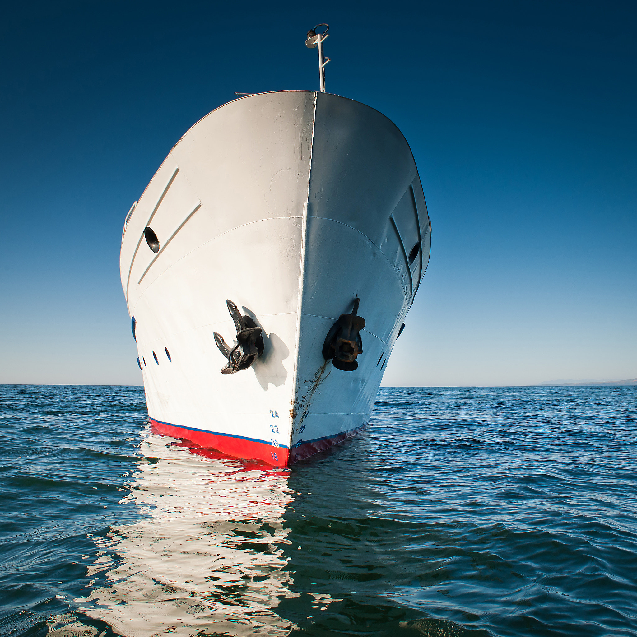
[[[143,519],[96,538],[81,610],[129,637],[288,634],[288,470],[189,448],[153,431],[125,498]],[[201,631],[201,632],[200,632]]]

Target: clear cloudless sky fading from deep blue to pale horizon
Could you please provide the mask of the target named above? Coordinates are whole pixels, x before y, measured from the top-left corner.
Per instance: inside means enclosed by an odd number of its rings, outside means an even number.
[[[633,3],[14,3],[0,22],[0,382],[140,384],[124,217],[234,91],[385,113],[429,270],[385,385],[637,376]],[[344,8],[345,7],[345,8]]]

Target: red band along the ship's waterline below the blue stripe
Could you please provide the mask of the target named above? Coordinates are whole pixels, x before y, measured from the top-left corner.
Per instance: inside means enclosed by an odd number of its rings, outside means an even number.
[[[333,447],[333,445],[338,445],[347,440],[347,438],[356,436],[367,426],[367,424],[364,424],[361,427],[343,431],[334,436],[324,436],[323,438],[315,438],[315,440],[301,440],[290,450],[286,445],[274,447],[265,440],[183,427],[181,425],[171,425],[169,422],[162,422],[154,418],[151,418],[150,422],[157,431],[173,436],[173,438],[184,438],[194,442],[199,447],[217,449],[223,454],[236,458],[262,460],[273,466],[289,466],[294,462],[308,458],[310,455]]]

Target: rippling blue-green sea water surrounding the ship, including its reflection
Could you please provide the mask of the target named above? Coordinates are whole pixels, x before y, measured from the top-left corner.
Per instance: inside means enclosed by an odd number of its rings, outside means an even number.
[[[0,386],[0,634],[637,634],[637,390],[381,389],[273,469]]]

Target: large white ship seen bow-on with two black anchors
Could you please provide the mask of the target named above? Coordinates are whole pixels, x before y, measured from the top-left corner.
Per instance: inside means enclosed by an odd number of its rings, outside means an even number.
[[[199,120],[122,235],[152,423],[274,466],[369,423],[429,261],[410,147],[378,111],[324,92],[326,37],[308,34],[322,90]]]

